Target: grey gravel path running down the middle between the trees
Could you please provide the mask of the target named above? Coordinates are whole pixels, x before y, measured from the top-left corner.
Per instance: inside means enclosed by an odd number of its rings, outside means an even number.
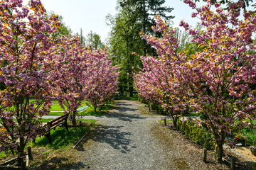
[[[76,147],[77,169],[173,169],[166,149],[151,128],[164,116],[142,115],[137,101],[117,101],[116,108]]]

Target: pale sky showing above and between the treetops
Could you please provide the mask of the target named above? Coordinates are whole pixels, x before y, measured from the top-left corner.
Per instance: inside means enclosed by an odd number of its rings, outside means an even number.
[[[27,4],[28,0],[23,0]],[[56,14],[63,16],[66,26],[69,26],[73,33],[80,33],[82,28],[83,35],[92,30],[100,35],[102,41],[107,38],[110,32],[110,26],[107,26],[105,17],[108,13],[114,15],[117,0],[41,0],[47,11],[54,11]],[[199,20],[191,18],[192,9],[188,4],[181,0],[166,0],[165,6],[173,7],[171,12],[174,18],[174,27],[184,19],[193,27]]]

